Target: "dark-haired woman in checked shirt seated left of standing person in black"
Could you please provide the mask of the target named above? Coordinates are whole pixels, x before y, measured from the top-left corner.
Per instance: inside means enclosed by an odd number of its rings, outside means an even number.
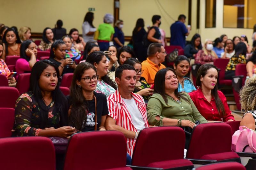
[[[43,31],[43,40],[40,42],[38,48],[42,51],[47,51],[51,49],[52,43],[54,42],[53,39],[53,32],[52,29],[49,27],[44,28]]]

